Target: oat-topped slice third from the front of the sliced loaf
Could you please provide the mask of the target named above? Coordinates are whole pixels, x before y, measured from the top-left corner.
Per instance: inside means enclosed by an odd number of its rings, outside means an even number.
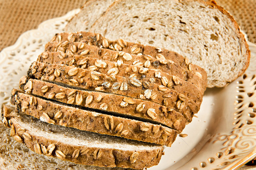
[[[24,79],[21,81],[20,89],[24,90],[26,86],[32,86],[31,89],[25,90],[27,93],[70,105],[97,109],[100,113],[107,111],[108,114],[112,113],[120,117],[132,116],[133,119],[154,121],[179,132],[188,122],[179,112],[149,101],[97,91],[71,89],[41,80],[27,79],[26,81],[27,83]]]

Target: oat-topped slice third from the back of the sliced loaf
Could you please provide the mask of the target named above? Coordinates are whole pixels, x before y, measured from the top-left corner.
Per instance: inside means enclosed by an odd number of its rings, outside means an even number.
[[[185,95],[192,101],[201,102],[203,98],[203,92],[198,90],[195,85],[180,79],[176,75],[170,75],[166,72],[162,72],[162,70],[142,67],[144,64],[139,61],[134,63],[134,65],[127,65],[122,64],[122,59],[119,60],[119,62],[100,60],[102,57],[98,55],[89,55],[90,57],[74,55],[67,56],[63,59],[59,58],[60,53],[58,52],[50,52],[47,54],[47,58],[43,58],[40,55],[37,61],[46,64],[70,65],[82,69],[97,71],[106,75],[115,74],[121,77],[129,77],[131,75],[135,75],[137,77],[143,77],[144,80],[149,80],[152,78],[154,79],[154,84],[167,86],[169,89],[173,89],[179,94]],[[179,72],[179,70],[174,70]]]

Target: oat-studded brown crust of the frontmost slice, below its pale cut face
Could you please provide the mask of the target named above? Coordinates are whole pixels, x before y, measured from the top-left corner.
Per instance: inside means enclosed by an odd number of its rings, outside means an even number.
[[[136,151],[62,143],[55,139],[49,139],[47,136],[35,135],[30,129],[26,129],[26,127],[20,124],[22,119],[17,116],[18,115],[15,116],[15,114],[13,114],[9,118],[6,117],[8,122],[10,122],[11,134],[14,139],[20,143],[25,143],[29,149],[38,154],[56,157],[61,160],[100,167],[118,166],[122,168],[143,169],[157,165],[163,154],[163,147]],[[31,119],[31,121],[34,120]],[[22,132],[19,129],[22,129]],[[42,131],[42,133],[44,133],[44,131]],[[70,140],[72,141],[72,139]],[[51,148],[53,148],[53,150],[51,150]]]

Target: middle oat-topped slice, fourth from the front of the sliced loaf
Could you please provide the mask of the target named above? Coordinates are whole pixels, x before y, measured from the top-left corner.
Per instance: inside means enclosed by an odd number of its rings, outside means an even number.
[[[60,72],[60,75],[57,75],[57,73],[54,74],[55,72]],[[148,86],[149,89],[142,88],[142,82],[144,80],[141,80],[141,77],[130,76],[127,78],[117,75],[109,77],[99,72],[82,68],[57,64],[46,65],[45,63],[36,62],[32,63],[28,75],[31,78],[71,85],[73,88],[102,91],[105,93],[129,96],[135,99],[140,99],[140,96],[148,95],[150,100],[144,99],[144,97],[142,99],[152,101],[159,105],[166,105],[172,110],[177,110],[185,115],[189,122],[192,120],[193,115],[200,109],[200,102],[195,103],[184,98],[184,95],[181,96],[177,94],[175,90],[171,90],[163,85],[156,85],[154,82],[149,82],[151,83],[150,86]],[[174,98],[172,98],[172,96]],[[151,117],[155,119],[155,116]]]

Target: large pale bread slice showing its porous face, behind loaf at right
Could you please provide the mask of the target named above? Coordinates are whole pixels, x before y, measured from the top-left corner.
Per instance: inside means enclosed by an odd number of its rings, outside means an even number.
[[[250,61],[236,21],[213,0],[118,0],[90,31],[174,50],[206,70],[208,87],[227,85]]]

